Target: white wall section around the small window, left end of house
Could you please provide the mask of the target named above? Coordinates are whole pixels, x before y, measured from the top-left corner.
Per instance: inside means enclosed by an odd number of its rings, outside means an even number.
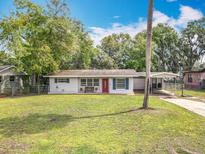
[[[69,83],[55,83],[55,78],[49,78],[49,94],[78,93],[78,78],[69,78]]]

